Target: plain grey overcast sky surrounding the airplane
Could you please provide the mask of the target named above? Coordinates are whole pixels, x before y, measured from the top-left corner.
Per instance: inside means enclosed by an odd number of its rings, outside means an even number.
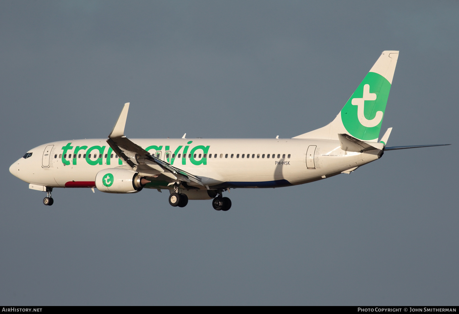
[[[453,305],[458,1],[1,1],[0,304]],[[31,148],[126,135],[290,138],[400,50],[387,151],[354,173],[168,204],[29,190]],[[228,195],[227,195],[228,196]]]

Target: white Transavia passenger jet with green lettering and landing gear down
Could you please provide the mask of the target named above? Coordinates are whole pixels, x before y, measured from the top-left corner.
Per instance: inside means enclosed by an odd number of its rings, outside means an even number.
[[[37,146],[10,167],[29,188],[94,188],[106,193],[169,191],[169,204],[212,199],[227,211],[223,192],[236,188],[277,188],[350,174],[381,158],[392,128],[379,139],[398,51],[386,50],[371,67],[336,118],[320,129],[290,139],[128,139],[129,103],[105,139],[64,140]]]

